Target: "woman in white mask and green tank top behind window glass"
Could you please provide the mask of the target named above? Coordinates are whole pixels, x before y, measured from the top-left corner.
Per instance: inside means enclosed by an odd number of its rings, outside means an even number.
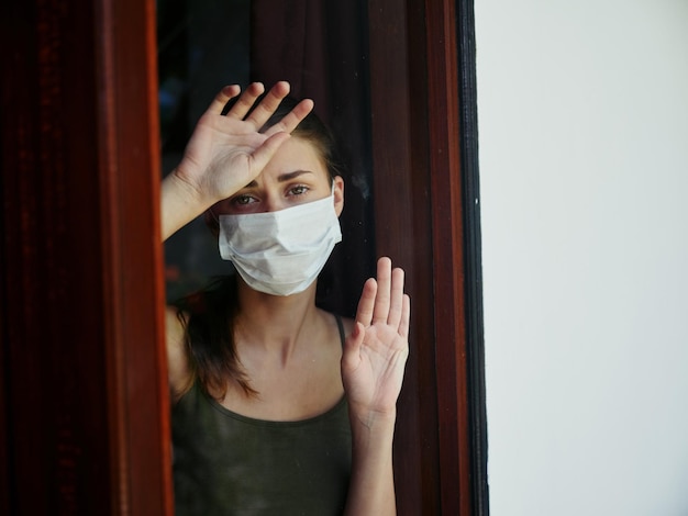
[[[224,88],[163,182],[164,238],[207,213],[237,271],[167,312],[178,516],[396,513],[403,271],[378,261],[355,321],[315,306],[344,182],[312,101],[263,128],[288,92]]]

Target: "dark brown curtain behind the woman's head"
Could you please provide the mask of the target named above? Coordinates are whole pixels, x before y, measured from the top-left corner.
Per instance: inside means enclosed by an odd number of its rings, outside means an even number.
[[[355,313],[376,258],[366,10],[359,0],[251,2],[251,80],[288,80],[293,97],[313,99],[347,165],[343,238],[319,283],[319,304],[344,315]]]

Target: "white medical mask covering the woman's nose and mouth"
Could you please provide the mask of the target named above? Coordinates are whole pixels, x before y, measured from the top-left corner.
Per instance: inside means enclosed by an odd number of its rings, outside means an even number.
[[[254,290],[303,292],[342,240],[334,193],[276,212],[220,215],[220,256]]]

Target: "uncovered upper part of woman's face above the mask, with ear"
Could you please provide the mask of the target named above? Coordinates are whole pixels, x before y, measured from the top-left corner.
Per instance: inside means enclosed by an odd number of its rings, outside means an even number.
[[[324,199],[332,193],[328,169],[315,147],[292,136],[285,142],[263,171],[234,195],[217,203],[215,215],[264,213]],[[344,206],[344,181],[334,179],[334,207]]]

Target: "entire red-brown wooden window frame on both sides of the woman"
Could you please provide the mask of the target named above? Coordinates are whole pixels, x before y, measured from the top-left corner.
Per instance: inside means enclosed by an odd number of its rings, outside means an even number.
[[[0,513],[173,514],[155,2],[13,3]],[[376,250],[413,298],[399,513],[486,515],[473,1],[368,16]]]

